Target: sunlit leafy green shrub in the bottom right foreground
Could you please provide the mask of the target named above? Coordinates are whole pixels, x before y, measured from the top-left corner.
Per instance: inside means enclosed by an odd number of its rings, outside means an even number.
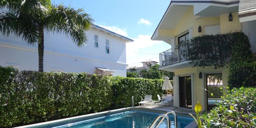
[[[210,113],[202,116],[207,128],[255,128],[256,88],[232,89]]]

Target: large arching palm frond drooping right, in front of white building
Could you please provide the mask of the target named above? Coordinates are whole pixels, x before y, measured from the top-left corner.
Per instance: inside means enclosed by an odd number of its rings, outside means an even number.
[[[67,6],[53,6],[46,20],[47,29],[51,32],[65,34],[81,47],[87,43],[85,31],[90,28],[93,19],[84,13],[83,9],[73,9]]]

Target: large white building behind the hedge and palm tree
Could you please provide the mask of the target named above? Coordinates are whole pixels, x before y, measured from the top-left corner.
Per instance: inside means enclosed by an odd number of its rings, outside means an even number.
[[[125,44],[133,40],[97,25],[86,33],[88,41],[84,47],[77,47],[65,35],[45,33],[44,71],[126,76]],[[0,65],[38,70],[37,49],[37,44],[0,34]]]

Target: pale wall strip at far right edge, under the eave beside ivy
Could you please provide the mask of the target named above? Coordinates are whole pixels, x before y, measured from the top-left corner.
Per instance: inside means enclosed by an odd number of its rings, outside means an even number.
[[[251,50],[256,53],[256,20],[242,22],[242,31],[249,35]]]

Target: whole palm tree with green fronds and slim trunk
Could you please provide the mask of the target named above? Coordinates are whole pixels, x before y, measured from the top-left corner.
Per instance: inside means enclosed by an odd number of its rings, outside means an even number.
[[[87,42],[93,23],[83,9],[53,5],[50,0],[1,0],[0,32],[22,37],[28,44],[38,44],[38,71],[44,71],[44,32],[58,32],[72,38],[78,46]]]

